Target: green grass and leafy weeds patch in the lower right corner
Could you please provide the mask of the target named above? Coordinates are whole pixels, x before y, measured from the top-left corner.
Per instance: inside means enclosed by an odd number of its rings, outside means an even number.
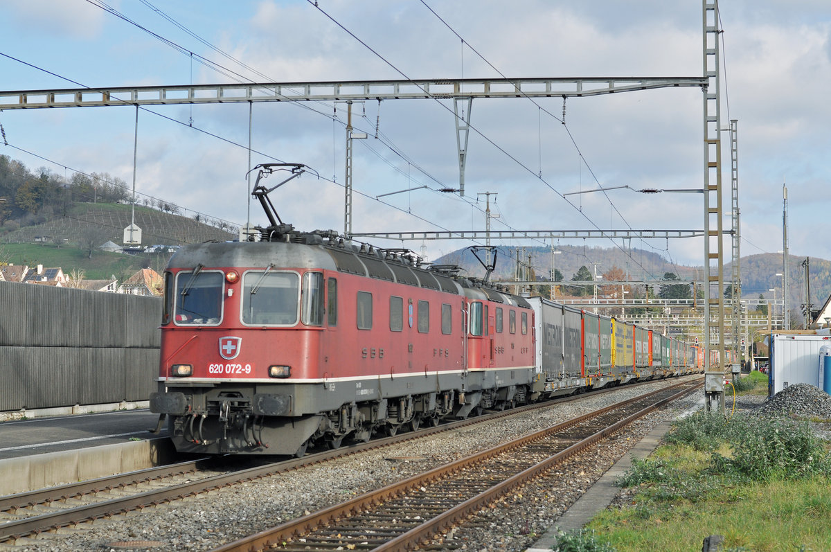
[[[831,550],[831,457],[807,424],[697,412],[666,442],[618,481],[629,503],[587,526],[607,550],[701,550],[708,535],[725,552]]]

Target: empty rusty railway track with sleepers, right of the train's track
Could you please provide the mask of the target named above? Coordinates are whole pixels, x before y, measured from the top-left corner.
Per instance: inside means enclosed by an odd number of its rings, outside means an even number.
[[[289,521],[214,552],[413,550],[520,485],[700,383],[680,383],[579,416]]]

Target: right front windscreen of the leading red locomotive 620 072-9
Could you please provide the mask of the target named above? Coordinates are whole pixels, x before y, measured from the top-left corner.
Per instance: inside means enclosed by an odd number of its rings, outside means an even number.
[[[243,323],[288,326],[297,323],[300,278],[292,272],[252,270],[243,274]]]

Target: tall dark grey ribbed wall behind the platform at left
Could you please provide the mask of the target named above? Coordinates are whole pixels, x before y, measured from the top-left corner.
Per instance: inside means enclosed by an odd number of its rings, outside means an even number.
[[[145,401],[161,300],[0,282],[0,412]]]

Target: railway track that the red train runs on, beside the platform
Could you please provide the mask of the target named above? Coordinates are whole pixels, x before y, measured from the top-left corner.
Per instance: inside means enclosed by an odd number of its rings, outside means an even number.
[[[566,397],[559,403],[613,390],[614,388],[576,397]],[[529,410],[550,407],[556,403],[537,403],[510,411],[489,413],[469,420],[454,421],[438,427],[376,439],[334,451],[321,451],[300,459],[283,460],[245,469],[239,469],[236,466],[230,471],[226,468],[224,471],[228,471],[227,473],[217,474],[219,468],[216,466],[216,461],[203,459],[0,497],[0,543],[10,544],[27,536],[56,531],[61,527],[75,526],[89,520],[124,514],[130,510],[153,507],[244,481],[273,476],[279,472],[327,461],[338,456],[410,441],[499,417],[514,416]],[[233,457],[233,461],[237,465],[241,463],[239,457]]]

